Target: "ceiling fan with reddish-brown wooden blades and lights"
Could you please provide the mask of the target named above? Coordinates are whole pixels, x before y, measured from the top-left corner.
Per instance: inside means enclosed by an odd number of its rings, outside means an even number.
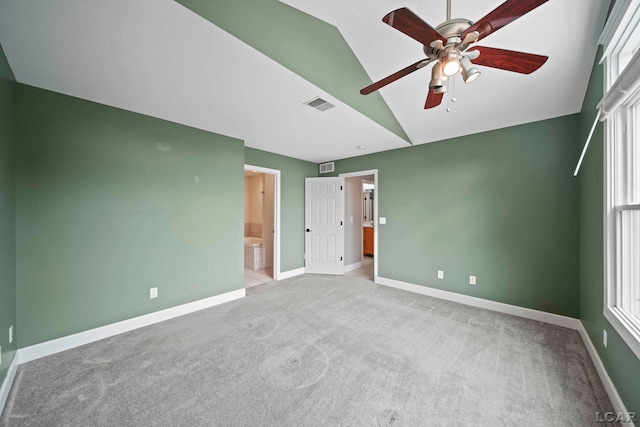
[[[447,20],[436,28],[431,27],[406,7],[394,10],[382,18],[382,22],[422,43],[427,57],[365,87],[360,93],[368,95],[435,62],[431,69],[429,93],[424,105],[424,108],[428,109],[437,107],[442,102],[449,77],[460,72],[465,83],[471,83],[478,78],[480,71],[476,65],[530,74],[540,68],[548,57],[471,45],[547,1],[507,0],[473,23],[468,19],[451,19],[451,0],[447,0]]]

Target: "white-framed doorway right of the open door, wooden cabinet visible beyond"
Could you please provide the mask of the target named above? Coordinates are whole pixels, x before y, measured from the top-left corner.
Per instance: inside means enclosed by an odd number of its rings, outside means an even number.
[[[378,277],[378,171],[340,174],[345,179],[345,274]]]

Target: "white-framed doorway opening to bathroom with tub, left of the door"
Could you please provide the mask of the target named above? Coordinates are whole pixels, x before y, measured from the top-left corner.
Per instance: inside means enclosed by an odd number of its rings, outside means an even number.
[[[244,285],[250,288],[280,274],[280,171],[244,169]]]

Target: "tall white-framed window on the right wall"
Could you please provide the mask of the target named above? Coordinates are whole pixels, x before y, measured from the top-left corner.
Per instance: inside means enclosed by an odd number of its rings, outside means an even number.
[[[640,357],[640,0],[617,1],[605,45],[604,315]]]

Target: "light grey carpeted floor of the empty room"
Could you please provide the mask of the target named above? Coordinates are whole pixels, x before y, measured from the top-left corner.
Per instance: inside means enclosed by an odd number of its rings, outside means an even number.
[[[304,275],[21,365],[2,426],[588,426],[577,332]]]

